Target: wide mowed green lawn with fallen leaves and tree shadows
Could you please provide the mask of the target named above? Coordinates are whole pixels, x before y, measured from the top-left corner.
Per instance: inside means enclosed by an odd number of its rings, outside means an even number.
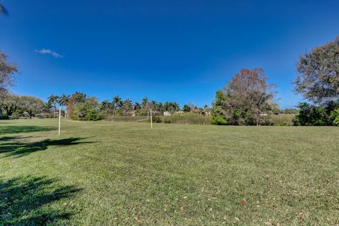
[[[0,225],[338,225],[339,129],[0,121]]]

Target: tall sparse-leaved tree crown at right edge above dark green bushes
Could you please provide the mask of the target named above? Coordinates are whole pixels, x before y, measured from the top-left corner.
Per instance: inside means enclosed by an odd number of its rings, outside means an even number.
[[[295,91],[316,103],[339,99],[339,35],[300,57]]]

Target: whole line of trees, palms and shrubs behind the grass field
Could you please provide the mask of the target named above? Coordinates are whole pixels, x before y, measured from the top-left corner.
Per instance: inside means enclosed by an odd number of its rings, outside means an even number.
[[[18,96],[8,92],[17,73],[15,64],[0,52],[0,119],[20,117],[57,117],[74,120],[153,121],[182,124],[339,126],[339,37],[302,55],[297,62],[295,92],[307,102],[297,109],[279,109],[275,103],[275,84],[268,83],[263,69],[241,69],[227,85],[215,93],[212,109],[177,102],[122,100],[99,102],[85,93],[51,95],[48,102],[37,97]],[[133,118],[132,118],[133,117]]]

